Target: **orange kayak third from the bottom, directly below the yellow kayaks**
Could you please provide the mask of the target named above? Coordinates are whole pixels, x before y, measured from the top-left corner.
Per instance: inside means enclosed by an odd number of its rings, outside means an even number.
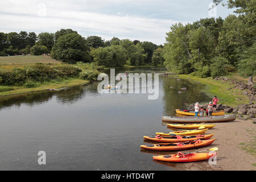
[[[166,143],[171,143],[171,142],[187,142],[187,141],[192,141],[192,140],[196,140],[196,139],[210,139],[213,137],[214,134],[209,134],[209,135],[189,135],[189,136],[161,136],[161,137],[157,137],[157,136],[144,136],[143,138],[146,140],[150,140],[152,142],[166,142]]]

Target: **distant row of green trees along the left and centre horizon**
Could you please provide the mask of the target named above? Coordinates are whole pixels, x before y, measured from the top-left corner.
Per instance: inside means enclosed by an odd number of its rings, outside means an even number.
[[[83,38],[72,29],[61,29],[55,34],[21,31],[19,34],[0,32],[0,56],[51,53],[54,59],[76,63],[96,62],[105,67],[130,65],[163,65],[163,46],[152,42],[120,40],[105,41],[100,36]]]

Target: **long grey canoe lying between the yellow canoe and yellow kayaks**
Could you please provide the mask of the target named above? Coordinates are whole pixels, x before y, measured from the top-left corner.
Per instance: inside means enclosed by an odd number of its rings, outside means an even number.
[[[234,121],[236,114],[232,115],[215,115],[211,117],[175,117],[175,116],[163,116],[162,121],[173,123],[217,123]]]

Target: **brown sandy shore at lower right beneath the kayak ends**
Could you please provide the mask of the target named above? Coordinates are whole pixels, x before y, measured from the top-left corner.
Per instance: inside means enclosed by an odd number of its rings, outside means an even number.
[[[208,161],[194,163],[166,163],[160,164],[174,167],[177,170],[256,170],[256,154],[251,154],[242,147],[254,147],[256,138],[256,124],[252,121],[236,119],[234,122],[214,123],[215,127],[209,129],[206,134],[214,133],[214,143],[208,147],[202,147],[185,152],[201,151],[212,147],[218,147],[217,164],[210,165]],[[254,144],[254,146],[253,146]],[[172,152],[175,154],[176,152]],[[254,164],[254,165],[253,165]]]

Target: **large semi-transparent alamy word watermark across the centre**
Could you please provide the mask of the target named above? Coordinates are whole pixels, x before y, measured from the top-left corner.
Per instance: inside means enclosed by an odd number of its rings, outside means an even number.
[[[152,73],[118,73],[115,75],[115,69],[110,69],[110,80],[105,73],[98,75],[97,80],[102,80],[97,88],[98,93],[101,94],[148,93],[148,100],[156,100],[159,96],[159,73],[154,73],[154,85]],[[119,82],[115,84],[115,81]]]

